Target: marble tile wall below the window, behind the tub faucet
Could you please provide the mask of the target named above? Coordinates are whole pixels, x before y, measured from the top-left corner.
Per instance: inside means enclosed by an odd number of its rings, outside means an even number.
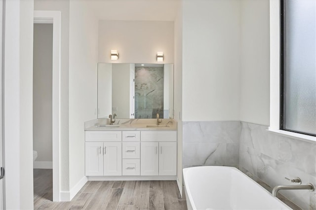
[[[300,177],[316,185],[316,143],[268,133],[266,126],[241,123],[239,167],[272,188],[289,185],[284,177]],[[280,194],[304,210],[315,209],[315,192],[282,190]]]

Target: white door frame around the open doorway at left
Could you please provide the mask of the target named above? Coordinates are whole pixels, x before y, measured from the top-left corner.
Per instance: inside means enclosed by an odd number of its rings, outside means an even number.
[[[34,23],[53,24],[52,68],[52,142],[53,201],[60,201],[60,75],[61,75],[61,12],[34,11]]]

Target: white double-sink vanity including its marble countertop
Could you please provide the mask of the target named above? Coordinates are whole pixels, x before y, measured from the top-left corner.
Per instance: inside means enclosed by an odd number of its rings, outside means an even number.
[[[176,180],[176,122],[116,120],[121,124],[85,123],[88,180]]]

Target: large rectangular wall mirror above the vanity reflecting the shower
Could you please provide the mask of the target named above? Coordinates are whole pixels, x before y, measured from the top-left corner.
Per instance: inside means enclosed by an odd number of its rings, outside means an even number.
[[[98,118],[173,118],[173,64],[98,63]]]

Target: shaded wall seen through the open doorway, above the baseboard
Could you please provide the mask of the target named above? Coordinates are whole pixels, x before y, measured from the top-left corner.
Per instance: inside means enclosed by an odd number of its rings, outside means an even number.
[[[33,46],[33,149],[52,162],[53,24],[34,24]]]

